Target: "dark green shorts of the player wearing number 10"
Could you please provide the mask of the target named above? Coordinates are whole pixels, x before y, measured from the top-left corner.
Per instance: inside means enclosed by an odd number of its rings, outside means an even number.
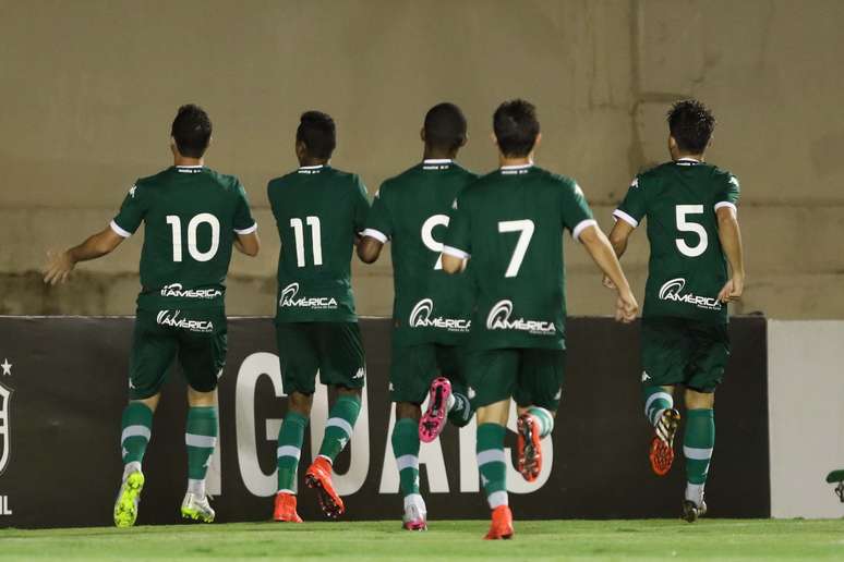
[[[226,311],[137,310],[129,362],[129,398],[158,394],[179,357],[188,384],[200,392],[217,388],[226,365]]]

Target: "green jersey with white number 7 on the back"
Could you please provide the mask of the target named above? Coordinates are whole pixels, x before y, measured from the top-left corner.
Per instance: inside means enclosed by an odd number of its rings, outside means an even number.
[[[531,164],[503,167],[463,190],[443,253],[471,257],[474,349],[565,349],[563,233],[595,224],[577,183]]]

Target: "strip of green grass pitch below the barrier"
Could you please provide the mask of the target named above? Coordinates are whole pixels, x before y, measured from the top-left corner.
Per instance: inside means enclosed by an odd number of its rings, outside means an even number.
[[[844,521],[516,522],[483,541],[486,522],[237,523],[132,529],[0,529],[0,560],[844,560]]]

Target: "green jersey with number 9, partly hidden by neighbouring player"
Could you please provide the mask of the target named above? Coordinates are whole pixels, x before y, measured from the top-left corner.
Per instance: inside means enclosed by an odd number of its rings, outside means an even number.
[[[470,279],[446,274],[441,253],[451,204],[477,179],[451,160],[424,160],[375,194],[363,234],[391,242],[398,344],[455,345],[469,333]]]

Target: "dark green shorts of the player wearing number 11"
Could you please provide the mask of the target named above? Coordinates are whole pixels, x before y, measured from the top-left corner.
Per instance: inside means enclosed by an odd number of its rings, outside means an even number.
[[[363,388],[366,364],[358,322],[277,322],[285,393],[313,394],[323,384]]]

